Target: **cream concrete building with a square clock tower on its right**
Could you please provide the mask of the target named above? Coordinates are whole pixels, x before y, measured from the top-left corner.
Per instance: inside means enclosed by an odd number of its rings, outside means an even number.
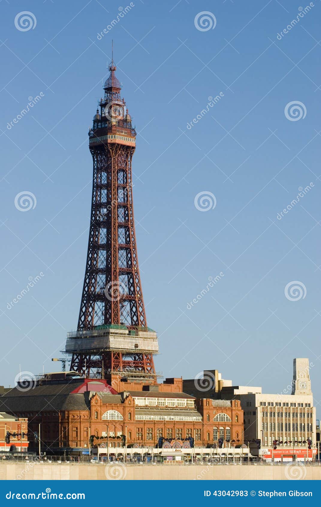
[[[272,454],[274,458],[307,457],[308,451],[309,457],[312,457],[308,441],[311,441],[312,448],[316,446],[316,417],[309,377],[309,360],[296,358],[293,364],[292,383],[286,386],[282,393],[239,394],[244,410],[244,439],[261,440],[263,451],[260,453],[269,457],[272,457]],[[250,445],[254,454],[255,443],[252,442]],[[259,454],[259,450],[256,454]]]

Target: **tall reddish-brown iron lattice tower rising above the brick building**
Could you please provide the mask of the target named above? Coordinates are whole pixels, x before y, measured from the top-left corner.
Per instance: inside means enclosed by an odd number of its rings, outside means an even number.
[[[136,131],[121,98],[113,60],[89,130],[93,192],[85,280],[77,331],[67,334],[70,370],[156,381],[157,335],[147,327],[138,268],[132,196]]]

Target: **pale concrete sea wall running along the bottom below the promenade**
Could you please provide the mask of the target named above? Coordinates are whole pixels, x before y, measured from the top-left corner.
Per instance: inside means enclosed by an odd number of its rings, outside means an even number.
[[[321,466],[1,463],[0,480],[321,480]]]

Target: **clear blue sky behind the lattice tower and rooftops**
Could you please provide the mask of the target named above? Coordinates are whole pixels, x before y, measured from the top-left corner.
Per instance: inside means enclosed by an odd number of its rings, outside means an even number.
[[[100,40],[97,33],[121,5],[0,5],[0,383],[12,385],[19,364],[34,374],[43,365],[53,370],[51,357],[60,356],[66,332],[76,328],[91,200],[87,134],[113,39],[117,77],[138,131],[136,233],[147,320],[159,335],[156,369],[192,378],[215,368],[234,384],[281,392],[292,379],[293,358],[309,357],[317,404],[320,2],[302,18],[300,4],[290,0],[133,4]],[[15,17],[25,10],[36,25],[21,31]],[[215,16],[214,29],[195,27],[202,11]],[[293,19],[299,21],[279,40]],[[293,101],[306,111],[298,121],[285,115]],[[22,212],[15,197],[25,191],[36,206]],[[214,209],[195,207],[200,192],[215,196]],[[8,309],[28,277],[41,272]],[[220,272],[221,280],[188,309]],[[285,286],[296,280],[305,297],[291,301]]]

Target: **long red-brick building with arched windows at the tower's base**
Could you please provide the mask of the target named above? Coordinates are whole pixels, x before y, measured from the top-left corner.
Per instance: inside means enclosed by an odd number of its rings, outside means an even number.
[[[239,402],[196,400],[177,392],[181,379],[117,392],[106,380],[68,373],[64,379],[49,377],[0,397],[0,410],[6,407],[7,412],[28,418],[31,431],[41,424],[41,447],[47,454],[79,455],[90,445],[155,448],[162,438],[193,439],[195,447],[218,446],[220,438],[225,447],[243,443]],[[32,447],[37,444],[30,441]]]

